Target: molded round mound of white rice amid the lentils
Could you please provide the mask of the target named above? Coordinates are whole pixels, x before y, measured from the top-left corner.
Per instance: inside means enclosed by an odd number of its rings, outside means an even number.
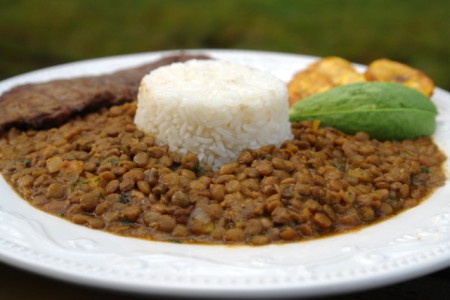
[[[240,151],[292,137],[285,83],[236,63],[191,60],[145,76],[135,123],[180,154],[217,169]]]

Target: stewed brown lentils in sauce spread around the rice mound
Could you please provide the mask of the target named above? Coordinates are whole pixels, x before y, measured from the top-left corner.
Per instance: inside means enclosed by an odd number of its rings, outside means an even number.
[[[361,228],[416,206],[445,182],[431,138],[380,142],[309,122],[281,147],[201,167],[133,123],[136,104],[59,128],[10,129],[0,170],[33,206],[76,224],[151,240],[292,242]]]

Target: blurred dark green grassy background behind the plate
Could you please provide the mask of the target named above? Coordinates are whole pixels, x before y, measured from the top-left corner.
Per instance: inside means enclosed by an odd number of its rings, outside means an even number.
[[[450,90],[450,1],[0,0],[0,80],[136,52],[257,49],[387,57]]]

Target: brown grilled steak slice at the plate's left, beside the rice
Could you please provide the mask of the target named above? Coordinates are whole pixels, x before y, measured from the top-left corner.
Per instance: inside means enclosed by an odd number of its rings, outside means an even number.
[[[60,125],[75,114],[136,99],[142,77],[174,62],[208,59],[174,55],[107,75],[25,84],[0,96],[0,134],[11,127],[43,129]]]

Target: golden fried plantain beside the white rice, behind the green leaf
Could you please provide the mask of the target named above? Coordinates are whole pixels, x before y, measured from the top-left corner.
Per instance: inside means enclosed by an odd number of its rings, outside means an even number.
[[[325,57],[296,73],[288,83],[289,104],[335,86],[365,81],[353,65],[340,57]]]

